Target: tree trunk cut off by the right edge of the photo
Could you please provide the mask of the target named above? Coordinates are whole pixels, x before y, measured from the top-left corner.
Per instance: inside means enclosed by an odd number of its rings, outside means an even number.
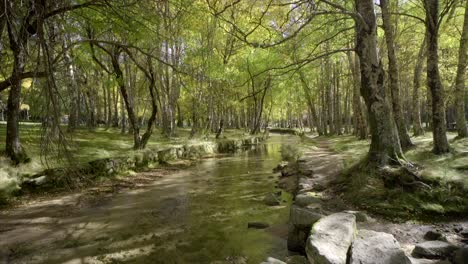
[[[463,30],[460,39],[460,47],[458,49],[458,67],[457,77],[455,79],[455,114],[457,122],[458,137],[464,138],[468,136],[468,129],[465,119],[465,74],[467,65],[467,49],[468,49],[468,1],[465,1],[465,18],[463,22]]]

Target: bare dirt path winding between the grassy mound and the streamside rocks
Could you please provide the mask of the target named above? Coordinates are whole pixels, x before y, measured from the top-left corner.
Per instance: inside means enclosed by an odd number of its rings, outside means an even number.
[[[331,150],[330,143],[326,139],[313,138],[312,140],[315,146],[305,148],[303,162],[305,167],[313,170],[313,177],[310,178],[309,184],[318,186],[314,189],[321,191],[323,208],[328,214],[346,210],[356,211],[356,208],[343,201],[334,190],[334,181],[344,168],[343,155]],[[462,246],[462,238],[458,232],[468,228],[468,219],[446,222],[434,219],[434,223],[417,221],[401,223],[394,222],[392,219],[384,219],[378,215],[370,215],[368,212],[364,213],[367,221],[358,222],[359,229],[393,234],[408,254],[414,249],[416,243],[424,241],[424,235],[430,230],[440,232],[447,241]]]

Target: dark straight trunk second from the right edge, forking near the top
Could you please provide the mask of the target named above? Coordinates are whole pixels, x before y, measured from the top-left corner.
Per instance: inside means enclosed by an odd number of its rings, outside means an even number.
[[[439,73],[439,1],[424,0],[427,37],[427,86],[432,97],[432,133],[435,154],[450,151],[445,120],[444,88]]]

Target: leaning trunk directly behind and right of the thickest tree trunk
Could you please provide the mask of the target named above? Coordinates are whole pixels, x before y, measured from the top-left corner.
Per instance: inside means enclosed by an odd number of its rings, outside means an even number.
[[[388,7],[387,0],[380,0],[382,9],[383,28],[385,31],[385,41],[387,43],[388,54],[388,73],[390,78],[390,91],[392,95],[393,117],[398,130],[400,144],[403,149],[408,149],[413,146],[406,128],[405,118],[401,109],[400,97],[400,81],[398,76],[398,64],[395,55],[394,29],[392,19]]]

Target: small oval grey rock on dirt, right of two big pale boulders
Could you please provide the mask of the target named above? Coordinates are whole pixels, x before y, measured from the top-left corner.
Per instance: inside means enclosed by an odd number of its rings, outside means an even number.
[[[450,256],[456,249],[450,243],[434,240],[417,244],[412,254],[420,258],[442,259]]]

